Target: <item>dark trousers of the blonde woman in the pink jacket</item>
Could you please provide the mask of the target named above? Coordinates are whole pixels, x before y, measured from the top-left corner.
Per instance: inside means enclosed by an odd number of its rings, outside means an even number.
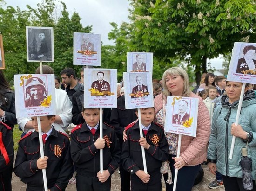
[[[172,180],[174,181],[174,176],[175,176],[175,168],[174,168],[174,160],[172,157],[176,157],[176,155],[171,155],[169,154],[169,161],[170,161],[170,168],[172,172]],[[195,177],[198,174],[200,170],[200,166],[183,166],[179,171],[178,171],[178,176],[177,176],[177,184],[176,184],[176,191],[191,191],[192,187],[195,182]],[[164,174],[164,181],[167,180],[168,174]],[[165,184],[166,186],[166,191],[172,191],[173,190],[173,184]]]

